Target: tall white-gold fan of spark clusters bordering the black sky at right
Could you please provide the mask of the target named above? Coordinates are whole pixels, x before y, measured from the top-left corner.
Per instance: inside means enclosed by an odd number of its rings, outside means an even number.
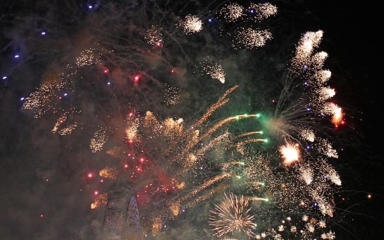
[[[331,73],[323,69],[328,54],[315,52],[322,37],[322,31],[306,32],[299,40],[292,64],[284,77],[285,85],[275,109],[275,119],[269,121],[268,127],[280,139],[296,143],[286,143],[280,148],[283,164],[300,160],[295,167],[295,179],[300,182],[292,179],[289,190],[285,188],[285,191],[295,192],[295,196],[301,199],[313,200],[321,214],[332,217],[335,192],[332,184],[340,186],[341,180],[327,163],[327,158],[337,158],[338,155],[323,134],[328,129],[320,123],[323,117],[333,114],[336,117],[332,121],[337,126],[342,122],[342,110],[333,102],[328,102],[335,95],[335,90],[326,85]],[[308,204],[301,201],[302,207]],[[281,201],[280,204],[286,203]],[[309,226],[303,231],[309,233],[312,230],[313,227]]]

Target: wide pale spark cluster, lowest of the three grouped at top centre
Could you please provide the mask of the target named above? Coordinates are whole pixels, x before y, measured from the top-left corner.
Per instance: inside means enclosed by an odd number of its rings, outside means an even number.
[[[254,49],[264,46],[266,41],[271,38],[272,34],[268,30],[240,28],[233,39],[233,47],[235,49]]]

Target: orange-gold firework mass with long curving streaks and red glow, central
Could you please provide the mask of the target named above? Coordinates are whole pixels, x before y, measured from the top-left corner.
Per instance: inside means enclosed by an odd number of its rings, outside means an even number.
[[[150,186],[156,189],[149,191],[147,185],[142,190],[154,203],[162,203],[156,207],[156,210],[150,208],[151,204],[147,204],[147,207],[142,208],[141,211],[147,219],[145,224],[151,226],[153,234],[159,231],[156,221],[164,222],[173,219],[180,209],[192,208],[211,198],[219,189],[228,188],[229,185],[225,184],[225,181],[235,176],[233,168],[244,164],[235,160],[236,157],[234,157],[231,161],[213,164],[213,167],[220,169],[215,174],[205,175],[194,170],[206,161],[207,155],[211,152],[225,152],[233,148],[233,140],[256,134],[256,132],[247,133],[232,138],[224,129],[233,121],[249,117],[256,118],[259,114],[241,114],[218,121],[218,124],[206,124],[209,117],[228,102],[228,95],[236,88],[237,86],[234,86],[225,91],[200,118],[192,121],[194,122],[192,125],[185,123],[181,118],[168,117],[161,120],[152,112],[146,112],[144,116],[131,112],[125,119],[125,139],[128,142],[128,149],[122,151],[120,148],[113,148],[108,152],[113,157],[120,156],[126,159],[125,162],[130,162],[126,164],[128,169],[131,164],[135,166],[136,170],[130,174],[132,181],[150,182]],[[199,130],[194,129],[197,127]],[[259,133],[261,132],[257,132]],[[144,155],[143,149],[147,149],[145,152],[145,155],[149,155],[146,157],[147,160],[134,153],[139,151],[140,155]],[[100,172],[100,176],[109,179],[114,179],[116,174],[116,168],[111,167],[105,167]],[[177,193],[181,190],[182,192],[175,196],[163,195],[163,193],[173,191]]]

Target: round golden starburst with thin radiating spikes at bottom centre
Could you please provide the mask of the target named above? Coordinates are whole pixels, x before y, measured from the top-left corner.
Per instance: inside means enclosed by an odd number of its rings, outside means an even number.
[[[228,198],[225,194],[224,200],[211,210],[209,224],[219,237],[235,231],[254,236],[253,230],[256,229],[256,224],[254,224],[255,216],[249,214],[251,210],[249,198],[244,196],[237,198],[233,193],[230,193]]]

